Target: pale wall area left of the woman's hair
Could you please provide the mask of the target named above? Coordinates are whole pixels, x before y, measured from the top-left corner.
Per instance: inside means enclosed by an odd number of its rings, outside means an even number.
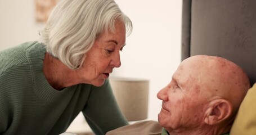
[[[38,39],[33,0],[0,0],[0,50]]]

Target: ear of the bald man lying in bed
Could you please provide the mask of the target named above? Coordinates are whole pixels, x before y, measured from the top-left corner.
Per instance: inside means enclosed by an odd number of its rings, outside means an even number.
[[[226,120],[232,114],[232,104],[224,99],[213,100],[205,111],[204,122],[214,125]]]

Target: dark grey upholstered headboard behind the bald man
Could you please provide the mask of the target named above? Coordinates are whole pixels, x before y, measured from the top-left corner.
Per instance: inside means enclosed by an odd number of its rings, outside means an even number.
[[[256,1],[183,0],[182,60],[193,55],[224,57],[256,82]]]

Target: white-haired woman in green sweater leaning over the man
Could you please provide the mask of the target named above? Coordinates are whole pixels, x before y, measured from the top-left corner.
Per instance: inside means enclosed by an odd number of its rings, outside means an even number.
[[[0,52],[0,134],[60,134],[83,112],[95,134],[127,120],[110,73],[132,22],[113,0],[64,0],[40,42]]]

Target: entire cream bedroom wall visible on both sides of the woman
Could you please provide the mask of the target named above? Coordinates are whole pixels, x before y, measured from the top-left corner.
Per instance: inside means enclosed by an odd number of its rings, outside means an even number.
[[[175,0],[116,0],[133,21],[121,52],[122,66],[113,76],[150,80],[149,118],[157,120],[165,87],[181,60],[181,8]],[[33,0],[0,0],[0,50],[36,40],[43,24],[35,22]]]

